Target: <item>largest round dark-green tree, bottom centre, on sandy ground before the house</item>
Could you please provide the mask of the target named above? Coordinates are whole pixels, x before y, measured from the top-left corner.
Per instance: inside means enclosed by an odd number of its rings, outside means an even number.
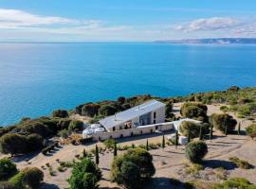
[[[131,175],[132,174],[132,175]],[[128,149],[114,159],[111,166],[111,179],[126,188],[138,188],[141,180],[155,174],[152,155],[140,147]]]

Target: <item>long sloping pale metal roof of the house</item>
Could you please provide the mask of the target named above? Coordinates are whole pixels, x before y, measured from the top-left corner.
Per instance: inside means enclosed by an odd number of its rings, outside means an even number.
[[[164,107],[165,104],[162,102],[159,102],[157,100],[150,100],[143,104],[140,104],[136,107],[133,107],[129,110],[116,113],[115,115],[111,115],[108,117],[105,117],[104,119],[100,120],[100,124],[105,129],[111,129],[119,124],[122,124],[124,122],[127,122],[131,119],[134,119],[140,115],[143,115],[148,112],[153,112],[161,107]]]

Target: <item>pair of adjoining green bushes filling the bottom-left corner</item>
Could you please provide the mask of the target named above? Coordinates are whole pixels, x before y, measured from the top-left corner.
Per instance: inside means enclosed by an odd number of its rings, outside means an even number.
[[[16,164],[9,159],[0,160],[0,186],[2,188],[31,188],[36,189],[44,180],[44,173],[36,167],[27,167],[19,171]]]

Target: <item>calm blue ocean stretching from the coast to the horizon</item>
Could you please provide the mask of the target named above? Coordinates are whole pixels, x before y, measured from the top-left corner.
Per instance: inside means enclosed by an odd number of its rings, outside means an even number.
[[[256,45],[0,43],[0,126],[119,95],[256,86]]]

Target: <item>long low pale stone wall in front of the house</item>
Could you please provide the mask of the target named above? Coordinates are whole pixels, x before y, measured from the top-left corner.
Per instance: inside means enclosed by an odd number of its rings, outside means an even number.
[[[116,130],[111,132],[97,132],[97,133],[93,133],[92,137],[94,141],[99,141],[99,140],[106,140],[110,138],[117,139],[122,137],[149,134],[149,133],[155,132],[156,130],[164,131],[164,130],[171,130],[171,129],[174,129],[174,124],[172,122],[166,122],[166,123],[155,124],[155,125],[141,126],[135,129],[122,129],[122,130]]]

